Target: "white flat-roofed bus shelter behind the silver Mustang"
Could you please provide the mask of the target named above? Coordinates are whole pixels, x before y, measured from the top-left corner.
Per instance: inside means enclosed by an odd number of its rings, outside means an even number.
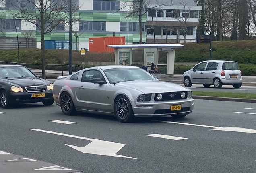
[[[167,75],[166,77],[173,77],[175,48],[182,47],[182,44],[125,44],[125,45],[108,45],[109,48],[114,48],[115,64],[116,65],[132,65],[132,51],[144,51],[144,65],[151,66],[153,62],[158,64],[159,52],[167,52]]]

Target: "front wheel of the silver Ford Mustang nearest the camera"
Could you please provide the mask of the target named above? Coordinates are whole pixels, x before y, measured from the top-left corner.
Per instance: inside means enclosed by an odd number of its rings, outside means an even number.
[[[128,123],[134,119],[132,105],[124,95],[118,96],[114,104],[114,113],[122,123]]]

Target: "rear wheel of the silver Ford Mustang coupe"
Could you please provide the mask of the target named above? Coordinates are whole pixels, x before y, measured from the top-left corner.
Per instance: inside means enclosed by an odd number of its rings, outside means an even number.
[[[74,106],[72,98],[67,92],[62,93],[60,97],[60,107],[64,115],[76,114],[76,108]]]

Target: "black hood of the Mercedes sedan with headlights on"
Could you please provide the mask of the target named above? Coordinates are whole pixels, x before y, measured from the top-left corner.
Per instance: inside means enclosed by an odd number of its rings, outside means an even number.
[[[15,85],[16,87],[47,85],[47,82],[40,78],[9,78],[9,79],[2,79],[2,81],[5,81],[10,85]]]

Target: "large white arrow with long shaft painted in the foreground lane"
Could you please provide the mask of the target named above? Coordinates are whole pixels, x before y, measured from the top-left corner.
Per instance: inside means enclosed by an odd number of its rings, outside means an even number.
[[[133,157],[126,157],[126,156],[116,154],[120,149],[122,149],[122,147],[125,146],[125,144],[103,141],[103,140],[99,140],[99,139],[92,139],[92,138],[87,138],[87,137],[80,137],[80,136],[76,136],[76,135],[68,135],[65,133],[58,133],[58,132],[53,132],[53,131],[41,130],[41,129],[29,129],[29,130],[40,131],[40,132],[51,133],[51,134],[55,134],[55,135],[62,135],[62,136],[66,136],[66,137],[73,137],[73,138],[85,139],[85,140],[92,141],[85,147],[77,147],[77,146],[65,144],[69,147],[72,147],[73,149],[81,151],[82,153],[136,159]]]

